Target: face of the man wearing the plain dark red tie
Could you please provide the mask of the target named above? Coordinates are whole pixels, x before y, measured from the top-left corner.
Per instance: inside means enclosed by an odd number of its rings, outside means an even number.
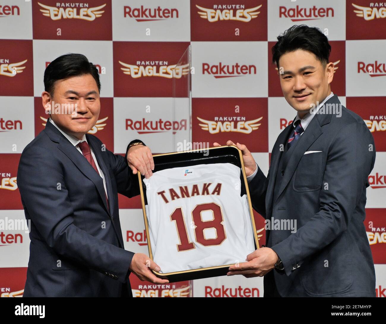
[[[43,92],[43,105],[44,95]],[[48,100],[48,99],[47,99]],[[54,104],[77,104],[76,114],[51,114],[52,120],[64,132],[81,139],[95,125],[100,112],[100,100],[97,83],[90,74],[73,76],[58,80],[54,87]],[[55,107],[51,107],[53,110]],[[61,111],[62,112],[62,111]]]

